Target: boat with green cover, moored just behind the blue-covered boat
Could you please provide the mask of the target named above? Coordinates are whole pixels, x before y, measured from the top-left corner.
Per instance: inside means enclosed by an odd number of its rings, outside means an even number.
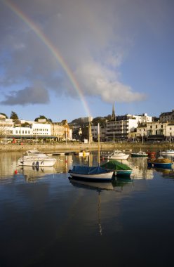
[[[117,160],[109,160],[105,164],[102,164],[101,167],[104,169],[112,169],[114,171],[114,176],[130,176],[133,171],[131,167]]]

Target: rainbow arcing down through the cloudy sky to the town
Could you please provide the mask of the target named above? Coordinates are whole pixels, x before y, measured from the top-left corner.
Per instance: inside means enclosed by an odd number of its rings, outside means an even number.
[[[86,99],[84,98],[83,93],[81,92],[79,84],[76,81],[72,71],[69,69],[69,67],[65,63],[65,60],[60,55],[60,53],[58,51],[58,48],[55,48],[55,46],[53,46],[53,44],[46,37],[46,35],[43,32],[41,32],[39,27],[36,27],[34,22],[32,22],[32,20],[29,20],[29,18],[27,18],[27,15],[25,15],[25,13],[22,13],[22,11],[17,6],[15,6],[13,3],[11,3],[11,1],[4,1],[4,4],[6,4],[6,6],[8,6],[8,8],[10,8],[11,11],[13,11],[13,13],[18,15],[18,17],[22,21],[24,21],[28,25],[28,27],[30,29],[33,30],[33,32],[36,34],[36,36],[39,37],[39,39],[41,39],[41,41],[48,48],[48,51],[50,51],[52,53],[52,55],[55,57],[55,59],[58,60],[58,63],[62,66],[62,69],[67,74],[67,77],[69,78],[70,82],[72,83],[72,86],[74,87],[76,93],[78,94],[79,98],[81,99],[81,103],[83,104],[83,108],[84,108],[84,110],[86,112],[86,115],[88,117],[90,117],[91,116],[91,112],[90,112],[90,110],[88,108],[88,105],[86,103]]]

